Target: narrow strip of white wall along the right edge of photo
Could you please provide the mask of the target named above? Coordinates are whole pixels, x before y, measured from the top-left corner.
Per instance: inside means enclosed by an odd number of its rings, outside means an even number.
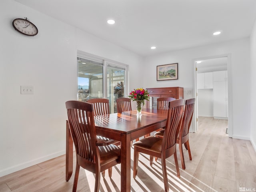
[[[256,150],[256,21],[254,22],[254,27],[250,36],[250,48],[251,48],[251,85],[250,85],[250,94],[251,94],[251,142]]]

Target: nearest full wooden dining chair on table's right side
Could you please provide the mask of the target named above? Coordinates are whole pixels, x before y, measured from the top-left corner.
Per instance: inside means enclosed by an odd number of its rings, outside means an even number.
[[[168,178],[166,171],[166,158],[174,155],[177,176],[180,178],[180,170],[176,153],[176,140],[178,137],[179,125],[182,120],[184,99],[177,99],[169,102],[168,115],[164,137],[149,136],[133,144],[134,146],[134,165],[133,178],[136,178],[138,172],[138,155],[139,152],[150,155],[150,166],[153,164],[153,156],[161,158],[164,189],[169,191]]]

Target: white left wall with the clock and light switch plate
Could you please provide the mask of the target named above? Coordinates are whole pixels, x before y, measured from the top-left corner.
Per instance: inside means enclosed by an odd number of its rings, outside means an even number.
[[[0,6],[0,176],[65,153],[67,100],[76,100],[77,50],[128,64],[138,76],[142,58],[13,0]],[[14,30],[27,17],[38,35]],[[138,70],[139,69],[139,70]],[[130,78],[130,87],[142,86]],[[20,86],[34,86],[21,95]]]

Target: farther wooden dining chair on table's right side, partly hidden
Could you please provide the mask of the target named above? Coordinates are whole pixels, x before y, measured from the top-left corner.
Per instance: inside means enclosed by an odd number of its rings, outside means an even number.
[[[194,113],[195,102],[196,102],[195,98],[191,98],[185,101],[185,110],[182,118],[182,124],[180,126],[179,135],[176,140],[176,143],[179,144],[182,169],[186,169],[182,144],[184,144],[186,150],[188,150],[189,159],[192,160],[189,141],[188,141],[188,134],[189,134],[189,128],[190,128],[190,124],[191,124],[193,113]],[[156,132],[155,136],[163,137],[164,130],[160,130],[159,132]]]

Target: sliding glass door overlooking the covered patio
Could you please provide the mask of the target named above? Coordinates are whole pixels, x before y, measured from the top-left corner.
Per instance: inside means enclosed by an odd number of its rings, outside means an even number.
[[[78,100],[107,98],[110,112],[117,112],[116,99],[125,95],[126,66],[106,60],[77,58],[78,66]]]

